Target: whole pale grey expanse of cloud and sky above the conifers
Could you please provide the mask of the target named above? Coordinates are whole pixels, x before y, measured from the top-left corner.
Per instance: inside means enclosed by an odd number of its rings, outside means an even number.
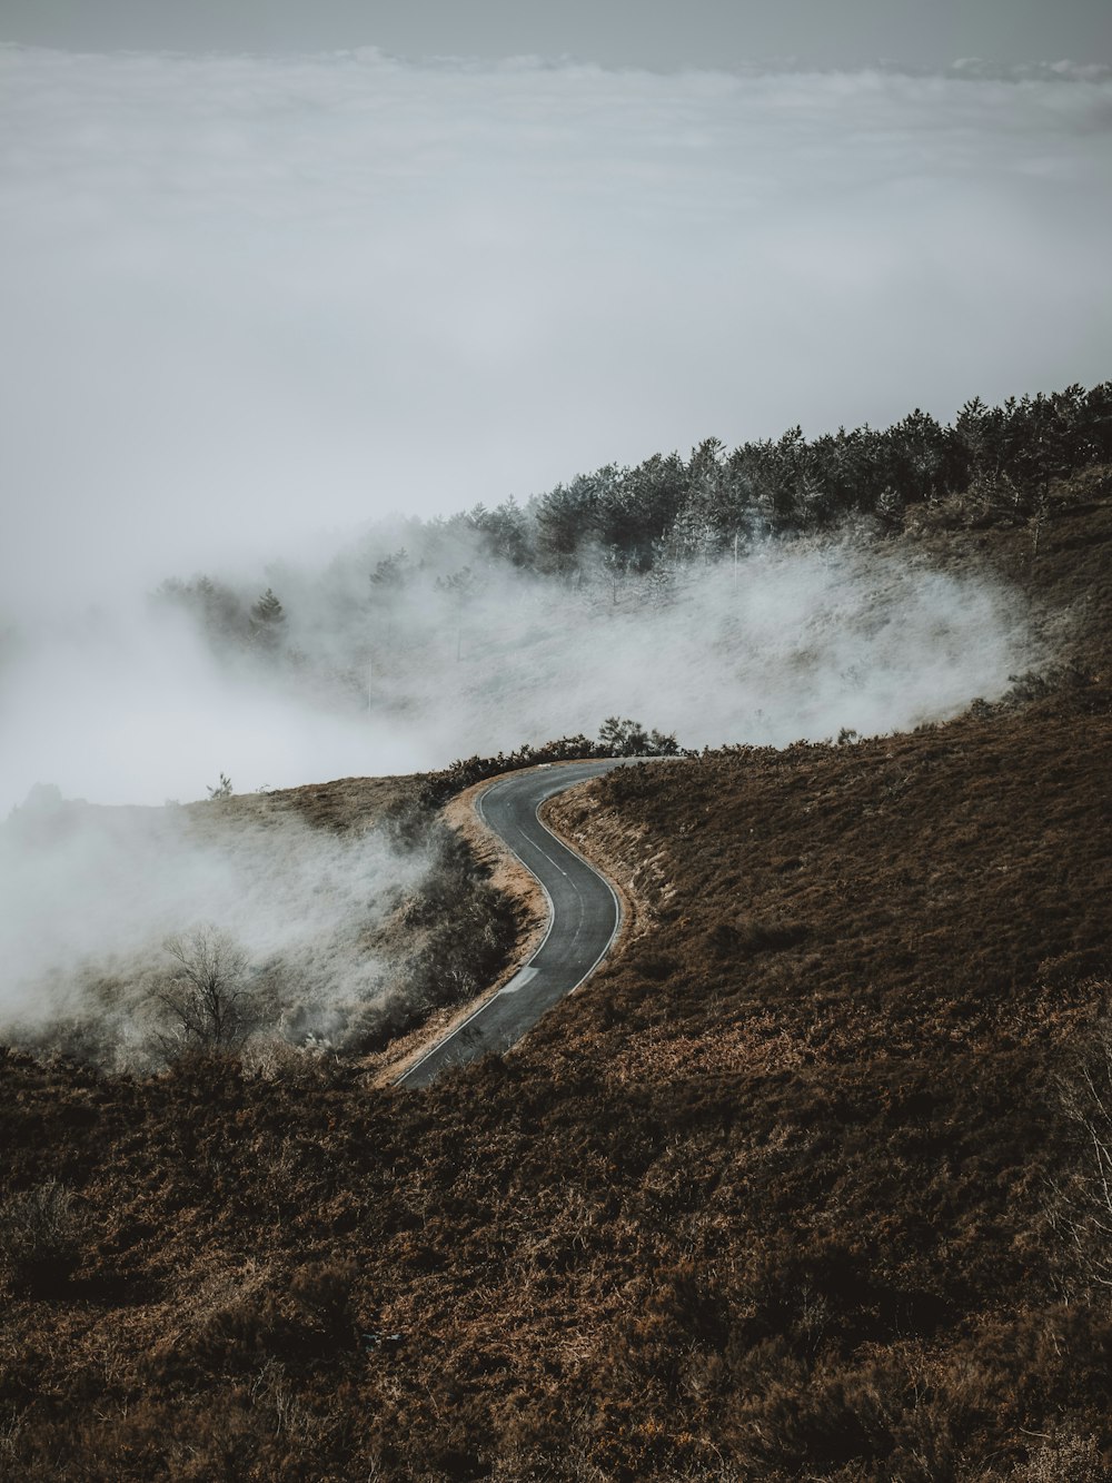
[[[1105,380],[1109,15],[0,0],[0,621]]]

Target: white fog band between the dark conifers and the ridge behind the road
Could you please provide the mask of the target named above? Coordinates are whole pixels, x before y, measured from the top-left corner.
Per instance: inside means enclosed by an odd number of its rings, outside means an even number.
[[[466,523],[414,525],[249,583],[10,638],[3,802],[39,782],[157,804],[221,771],[243,790],[412,771],[612,713],[688,746],[872,734],[999,696],[1030,658],[1004,586],[853,537],[649,572],[595,550],[544,575]]]

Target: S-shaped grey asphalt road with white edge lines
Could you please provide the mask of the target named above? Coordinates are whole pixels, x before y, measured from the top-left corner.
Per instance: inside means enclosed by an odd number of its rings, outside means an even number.
[[[479,817],[541,882],[549,899],[549,930],[525,967],[414,1062],[396,1086],[423,1087],[448,1066],[461,1066],[489,1050],[507,1050],[599,964],[621,922],[617,893],[603,875],[541,823],[538,810],[547,798],[620,767],[623,761],[569,762],[510,773],[480,795]]]

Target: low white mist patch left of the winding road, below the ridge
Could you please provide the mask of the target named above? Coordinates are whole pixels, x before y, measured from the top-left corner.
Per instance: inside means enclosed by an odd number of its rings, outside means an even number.
[[[427,860],[282,810],[95,808],[36,789],[0,825],[0,1028],[83,1025],[86,1054],[142,1059],[163,942],[205,931],[328,1028],[380,994],[368,942]]]

